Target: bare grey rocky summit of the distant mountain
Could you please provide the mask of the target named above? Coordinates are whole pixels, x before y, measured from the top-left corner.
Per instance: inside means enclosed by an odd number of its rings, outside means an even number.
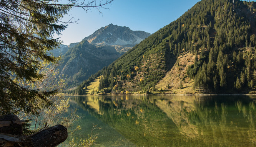
[[[105,43],[107,45],[133,45],[140,43],[150,36],[144,31],[132,31],[126,26],[109,24],[95,31],[90,36],[84,38],[91,44]]]

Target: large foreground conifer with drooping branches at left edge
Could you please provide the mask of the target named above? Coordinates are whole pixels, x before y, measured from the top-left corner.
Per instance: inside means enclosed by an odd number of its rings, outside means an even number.
[[[111,1],[106,1],[106,4]],[[66,28],[61,19],[72,7],[81,7],[87,11],[91,6],[100,8],[104,5],[98,1],[67,2],[0,1],[0,114],[18,113],[15,109],[36,113],[35,110],[40,107],[37,100],[45,101],[42,103],[44,106],[51,105],[47,97],[55,95],[57,90],[42,91],[27,86],[42,79],[43,75],[38,71],[43,67],[42,62],[58,61],[49,56],[48,51],[57,48],[60,41],[50,38]]]

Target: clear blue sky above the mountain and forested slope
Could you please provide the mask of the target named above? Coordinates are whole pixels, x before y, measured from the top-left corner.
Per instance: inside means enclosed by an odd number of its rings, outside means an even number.
[[[87,13],[73,8],[63,20],[79,19],[78,24],[68,24],[60,37],[63,44],[79,42],[97,29],[110,23],[127,26],[131,30],[155,33],[160,28],[179,18],[200,0],[114,0],[106,5],[109,10],[91,9]]]

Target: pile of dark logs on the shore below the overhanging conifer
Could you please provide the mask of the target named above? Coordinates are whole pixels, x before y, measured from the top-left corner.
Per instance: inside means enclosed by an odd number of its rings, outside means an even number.
[[[17,116],[0,116],[0,147],[55,147],[67,137],[67,129],[62,125],[25,136],[22,135],[22,121]]]

